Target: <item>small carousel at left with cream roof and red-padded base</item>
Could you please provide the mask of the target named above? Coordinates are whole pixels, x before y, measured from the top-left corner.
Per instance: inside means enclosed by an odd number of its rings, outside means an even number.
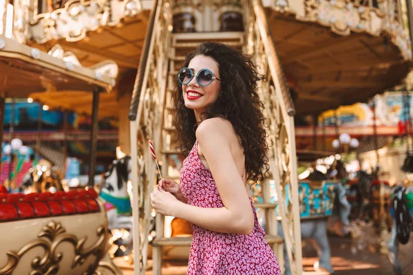
[[[75,90],[94,94],[96,124],[98,96],[111,91],[114,85],[105,65],[86,68],[74,63],[73,54],[41,52],[6,36],[0,36],[0,60],[1,122],[6,97],[27,98],[33,92],[47,94],[50,89],[56,93]],[[95,134],[96,129],[92,129],[92,156],[96,151]],[[14,140],[12,148],[17,143]],[[107,255],[107,217],[93,181],[88,190],[65,192],[59,179],[54,178],[56,173],[46,166],[34,167],[29,174],[27,194],[9,192],[13,189],[10,185],[1,186],[0,226],[8,237],[1,247],[0,274],[118,272]]]

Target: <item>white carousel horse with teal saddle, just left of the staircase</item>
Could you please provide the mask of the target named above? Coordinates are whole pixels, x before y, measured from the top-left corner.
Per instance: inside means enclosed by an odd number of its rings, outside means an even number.
[[[133,228],[131,217],[131,200],[127,192],[127,181],[131,174],[131,157],[126,156],[115,159],[109,166],[109,170],[103,174],[102,188],[99,198],[105,204],[107,228],[126,229],[131,232]],[[116,245],[129,246],[132,242],[132,234],[127,239],[118,239]]]

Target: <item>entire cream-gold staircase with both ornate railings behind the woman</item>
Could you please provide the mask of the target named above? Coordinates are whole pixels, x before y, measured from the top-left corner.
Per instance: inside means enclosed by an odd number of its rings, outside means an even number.
[[[271,179],[260,182],[262,208],[266,214],[266,240],[284,266],[283,239],[277,234],[277,215],[282,217],[288,261],[293,274],[301,274],[301,232],[299,225],[297,159],[295,156],[294,107],[286,88],[281,66],[273,43],[268,42],[268,25],[262,3],[257,0],[242,1],[244,32],[202,32],[190,34],[171,33],[171,5],[173,1],[156,1],[148,23],[145,52],[142,54],[138,76],[132,96],[131,120],[132,182],[134,186],[134,249],[135,273],[145,272],[148,252],[148,234],[156,217],[156,238],[152,242],[153,274],[160,274],[162,256],[171,248],[188,248],[191,236],[165,234],[165,217],[151,209],[149,193],[156,184],[156,164],[151,158],[148,140],[152,140],[156,155],[162,160],[162,176],[179,181],[173,168],[173,159],[180,152],[174,142],[174,110],[172,94],[176,77],[185,54],[200,43],[215,41],[226,43],[253,56],[260,65],[261,74],[268,81],[260,87],[260,96],[266,104],[270,150]],[[156,26],[156,28],[154,28]],[[271,143],[270,143],[271,144]],[[271,203],[269,181],[275,181],[278,201]],[[286,188],[290,186],[290,191]],[[287,194],[289,198],[287,199]],[[257,194],[255,194],[257,195]],[[288,207],[286,201],[290,201]],[[277,207],[278,206],[278,207]],[[136,211],[138,210],[138,211]],[[170,221],[169,217],[167,221]],[[164,252],[162,254],[162,252]]]

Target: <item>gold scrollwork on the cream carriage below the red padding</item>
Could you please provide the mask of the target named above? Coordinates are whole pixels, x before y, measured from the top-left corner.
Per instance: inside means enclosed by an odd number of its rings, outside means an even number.
[[[63,254],[61,252],[56,252],[61,243],[71,243],[74,246],[75,256],[72,262],[72,268],[76,267],[76,265],[83,265],[87,257],[92,254],[100,259],[103,249],[105,248],[105,240],[107,236],[105,226],[100,226],[96,234],[98,236],[96,243],[89,248],[83,248],[83,245],[87,240],[86,236],[82,239],[78,239],[75,235],[66,233],[66,230],[62,227],[61,223],[50,221],[50,223],[47,223],[37,235],[38,239],[34,239],[25,244],[23,248],[17,252],[9,251],[6,253],[8,256],[8,263],[0,268],[0,274],[12,274],[19,264],[21,257],[30,250],[38,247],[43,248],[45,254],[42,257],[37,256],[32,260],[33,270],[30,272],[30,275],[56,274],[56,272],[59,271],[59,264],[63,259]]]

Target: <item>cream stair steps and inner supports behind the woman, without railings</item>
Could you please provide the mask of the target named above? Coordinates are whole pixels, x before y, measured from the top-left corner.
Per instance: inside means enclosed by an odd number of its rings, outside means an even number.
[[[184,56],[195,50],[202,42],[214,41],[231,45],[239,50],[245,45],[244,32],[209,32],[202,34],[173,34],[171,37],[172,47],[169,50],[169,74],[168,74],[168,89],[167,100],[165,101],[165,120],[162,133],[162,175],[179,182],[179,177],[176,173],[171,174],[170,162],[173,161],[172,155],[180,155],[180,151],[176,148],[175,127],[173,126],[173,104],[171,101],[172,94],[176,93],[176,76],[182,67]],[[262,188],[269,191],[268,181],[262,183]],[[269,194],[269,192],[267,193]],[[264,196],[265,203],[255,203],[256,208],[263,208],[268,219],[268,234],[266,241],[271,245],[273,251],[280,259],[282,255],[283,240],[277,235],[277,223],[275,221],[275,203],[270,203],[270,197]],[[268,213],[268,214],[267,214]],[[170,219],[168,219],[170,221]],[[169,224],[167,224],[169,226]],[[271,232],[271,233],[270,233]],[[165,251],[171,252],[172,247],[189,247],[191,246],[192,238],[188,236],[165,236],[165,217],[162,214],[156,214],[156,239],[153,241],[153,274],[160,274],[162,265],[162,256]]]

